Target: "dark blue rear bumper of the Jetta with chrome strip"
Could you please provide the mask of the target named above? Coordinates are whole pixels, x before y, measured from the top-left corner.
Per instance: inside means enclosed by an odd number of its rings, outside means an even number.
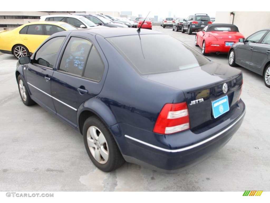
[[[207,159],[213,153],[222,148],[234,135],[241,126],[245,115],[245,104],[240,100],[238,107],[231,112],[231,115],[222,119],[217,126],[212,127],[204,132],[195,134],[190,130],[174,135],[157,136],[156,143],[151,143],[151,140],[144,141],[135,136],[125,134],[124,139],[120,141],[120,150],[127,162],[136,163],[146,166],[156,171],[165,173],[175,173],[189,168],[197,163]],[[135,132],[139,133],[138,129]],[[125,127],[123,129],[125,131]],[[147,140],[150,132],[143,136]],[[132,132],[130,132],[132,134]],[[197,142],[192,140],[192,137],[197,137]],[[201,139],[200,137],[205,137]],[[190,140],[189,140],[190,138]],[[118,138],[116,138],[118,139]],[[121,148],[121,142],[125,146]],[[162,146],[161,143],[164,143]],[[179,147],[181,145],[181,147]],[[178,147],[177,147],[178,146]]]

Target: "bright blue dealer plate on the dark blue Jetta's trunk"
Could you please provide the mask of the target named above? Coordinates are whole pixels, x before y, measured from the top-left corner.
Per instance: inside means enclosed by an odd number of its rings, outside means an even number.
[[[222,97],[212,102],[212,111],[214,118],[221,116],[222,114],[230,110],[228,96]]]

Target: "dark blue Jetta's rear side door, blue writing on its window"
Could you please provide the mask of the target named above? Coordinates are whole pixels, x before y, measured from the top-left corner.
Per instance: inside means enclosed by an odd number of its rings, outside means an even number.
[[[75,36],[70,37],[52,79],[56,115],[73,127],[77,126],[79,106],[101,91],[104,71],[96,46],[86,38]],[[94,36],[89,37],[95,41]]]

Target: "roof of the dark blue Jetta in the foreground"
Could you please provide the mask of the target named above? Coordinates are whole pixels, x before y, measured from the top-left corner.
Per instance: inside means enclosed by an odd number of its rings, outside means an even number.
[[[120,37],[120,36],[127,36],[127,35],[139,35],[137,32],[137,29],[127,29],[127,28],[110,28],[110,32],[107,31],[107,29],[100,29],[100,28],[86,28],[86,29],[78,29],[78,30],[69,30],[69,31],[62,31],[60,33],[70,33],[72,32],[73,34],[76,32],[77,34],[79,34],[78,32],[88,32],[89,34],[97,34],[102,36],[103,38],[107,38],[107,37]],[[56,33],[56,34],[58,34]],[[164,34],[158,31],[153,31],[153,30],[148,30],[148,29],[141,29],[140,30],[140,35],[143,34]]]

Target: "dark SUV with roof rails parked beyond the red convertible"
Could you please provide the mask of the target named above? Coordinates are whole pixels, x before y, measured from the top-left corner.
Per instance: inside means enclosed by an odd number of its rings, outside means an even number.
[[[212,24],[212,21],[207,14],[190,15],[186,19],[183,19],[183,21],[182,33],[187,32],[189,35],[191,35],[192,32],[203,30],[203,28],[208,24]]]

